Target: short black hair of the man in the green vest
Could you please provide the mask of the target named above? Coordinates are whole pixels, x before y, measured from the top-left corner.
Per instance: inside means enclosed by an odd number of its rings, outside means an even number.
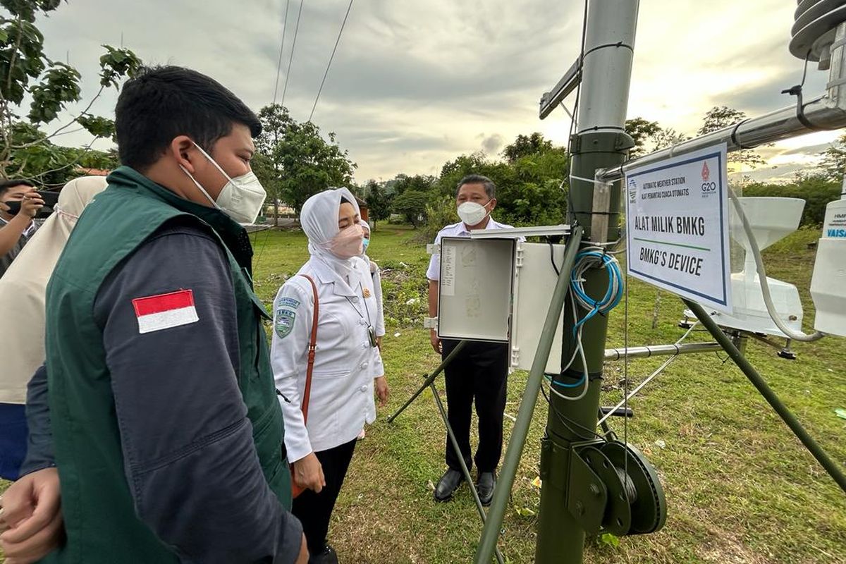
[[[211,145],[235,123],[261,134],[261,122],[217,80],[183,67],[142,68],[124,84],[115,107],[120,162],[144,172],[174,137],[187,135],[211,153]]]

